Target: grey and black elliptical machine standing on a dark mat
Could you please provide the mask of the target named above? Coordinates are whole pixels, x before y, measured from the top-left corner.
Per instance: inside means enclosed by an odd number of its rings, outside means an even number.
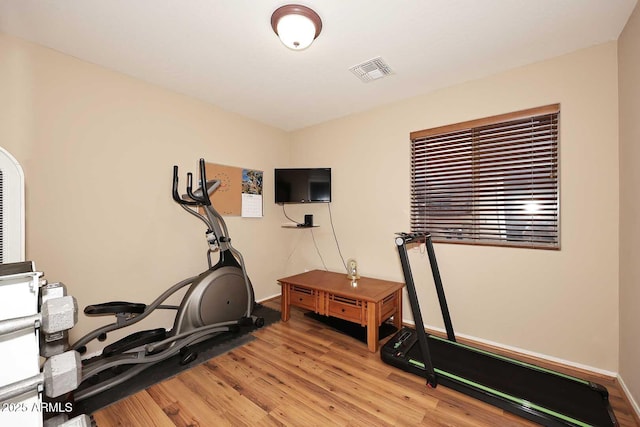
[[[107,332],[131,326],[156,309],[176,310],[176,317],[169,331],[158,328],[135,332],[106,346],[100,356],[84,361],[82,383],[85,386],[81,384],[76,391],[76,401],[102,393],[176,354],[180,354],[180,364],[190,363],[197,353],[189,346],[217,334],[236,331],[240,326],[264,325],[263,318],[252,315],[255,297],[242,254],[231,246],[224,219],[211,205],[209,196],[220,186],[220,181],[207,181],[204,159],[200,159],[199,178],[200,184],[193,191],[193,176],[191,172],[187,173],[187,194],[180,196],[178,166],[174,166],[172,196],[176,203],[207,226],[209,268],[176,283],[149,305],[115,301],[87,306],[84,309],[87,316],[115,315],[116,320],[88,333],[71,346],[81,354],[86,352],[87,343],[94,339],[105,341]],[[214,252],[219,252],[220,258],[212,265],[211,254]],[[163,304],[185,286],[189,289],[179,306]],[[115,367],[128,369],[96,381],[98,374]]]

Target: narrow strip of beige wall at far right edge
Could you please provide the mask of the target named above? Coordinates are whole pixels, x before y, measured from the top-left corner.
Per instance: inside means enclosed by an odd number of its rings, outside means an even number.
[[[620,376],[640,412],[640,6],[618,40],[620,96]]]

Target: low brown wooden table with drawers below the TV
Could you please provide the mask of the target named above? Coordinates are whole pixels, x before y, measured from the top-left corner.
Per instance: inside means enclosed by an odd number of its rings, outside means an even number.
[[[312,270],[279,279],[282,285],[282,321],[291,317],[290,307],[306,308],[325,316],[338,317],[367,326],[369,351],[378,350],[378,327],[393,317],[402,327],[404,283],[361,277],[357,285],[345,273]]]

